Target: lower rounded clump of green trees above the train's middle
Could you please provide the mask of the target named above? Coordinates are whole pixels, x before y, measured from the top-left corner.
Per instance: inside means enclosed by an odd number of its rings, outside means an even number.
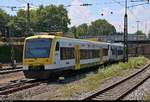
[[[113,25],[109,24],[106,20],[96,20],[91,25],[81,24],[78,27],[71,27],[72,32],[76,37],[78,36],[99,36],[110,35],[116,33],[116,29]]]

